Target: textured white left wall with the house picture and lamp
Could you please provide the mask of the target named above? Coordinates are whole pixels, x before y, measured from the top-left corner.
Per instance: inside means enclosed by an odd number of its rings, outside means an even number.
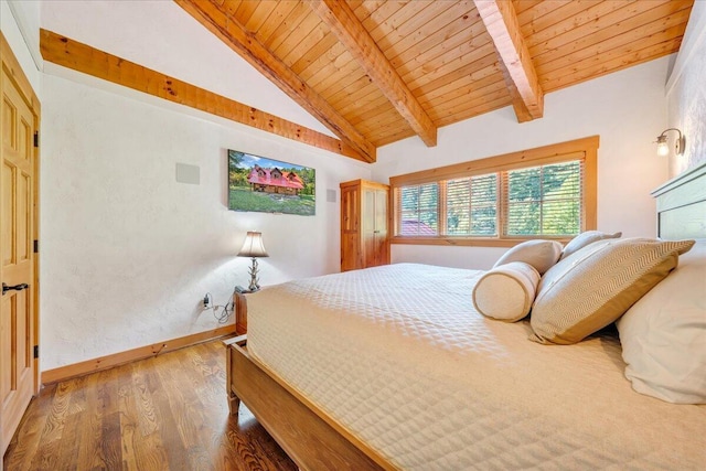
[[[201,300],[247,285],[246,231],[270,255],[264,285],[339,270],[325,190],[368,165],[52,75],[43,95],[42,370],[218,327]],[[227,148],[314,168],[317,215],[229,212]],[[199,165],[201,184],[178,183],[176,162]]]

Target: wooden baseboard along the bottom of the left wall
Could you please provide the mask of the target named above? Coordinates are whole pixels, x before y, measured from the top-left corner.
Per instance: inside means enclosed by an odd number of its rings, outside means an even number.
[[[54,370],[42,372],[42,384],[52,384],[60,381],[69,379],[76,376],[83,376],[89,373],[108,370],[114,366],[135,362],[138,360],[149,358],[162,353],[172,352],[183,349],[184,346],[196,345],[199,343],[208,342],[224,335],[235,334],[235,324],[208,330],[205,332],[194,333],[179,339],[168,340],[165,342],[153,343],[147,346],[140,346],[125,352],[114,353],[111,355],[100,356],[85,362],[74,363],[66,366],[60,366]]]

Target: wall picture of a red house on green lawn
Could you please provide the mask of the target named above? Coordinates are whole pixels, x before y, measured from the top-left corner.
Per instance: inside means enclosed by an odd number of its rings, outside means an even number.
[[[228,208],[313,216],[315,171],[228,149]]]

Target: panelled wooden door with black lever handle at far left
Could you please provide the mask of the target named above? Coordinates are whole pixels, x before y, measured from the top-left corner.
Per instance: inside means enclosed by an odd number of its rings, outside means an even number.
[[[0,90],[0,453],[36,392],[35,159],[39,101],[3,41]],[[11,53],[10,53],[11,54]],[[19,72],[20,71],[20,72]],[[29,98],[28,98],[29,97]],[[7,290],[6,287],[13,288]]]

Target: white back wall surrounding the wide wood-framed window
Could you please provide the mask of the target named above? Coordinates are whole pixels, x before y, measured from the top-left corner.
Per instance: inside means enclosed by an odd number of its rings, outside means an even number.
[[[666,119],[668,57],[545,96],[544,118],[517,124],[512,107],[439,129],[438,146],[417,138],[378,150],[373,179],[448,165],[599,135],[598,228],[624,236],[655,235],[650,191],[667,178],[653,141]],[[393,245],[392,260],[490,268],[503,248]]]

